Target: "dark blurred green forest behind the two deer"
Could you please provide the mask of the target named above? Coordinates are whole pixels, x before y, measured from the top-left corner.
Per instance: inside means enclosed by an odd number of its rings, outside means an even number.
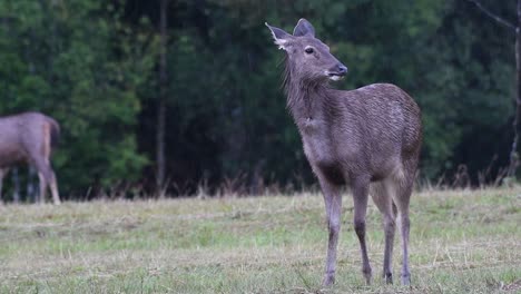
[[[481,3],[517,23],[515,1]],[[350,68],[335,87],[392,82],[419,102],[421,183],[504,174],[515,33],[465,0],[1,0],[0,115],[60,122],[65,199],[305,189],[284,53],[264,26],[302,17]]]

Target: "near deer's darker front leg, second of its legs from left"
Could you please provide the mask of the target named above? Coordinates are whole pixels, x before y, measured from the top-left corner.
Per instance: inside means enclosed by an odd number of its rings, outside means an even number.
[[[367,245],[365,242],[365,216],[367,213],[370,177],[357,177],[352,180],[353,202],[354,202],[354,229],[360,242],[362,253],[362,273],[365,283],[371,284],[372,270],[367,255]]]

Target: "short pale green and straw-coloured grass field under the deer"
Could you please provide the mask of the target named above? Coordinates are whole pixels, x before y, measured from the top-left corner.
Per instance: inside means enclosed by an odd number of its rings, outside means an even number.
[[[381,216],[363,283],[344,197],[336,284],[321,287],[322,196],[0,207],[2,293],[521,293],[521,188],[413,195],[412,286],[387,286]],[[400,278],[400,238],[394,254]]]

